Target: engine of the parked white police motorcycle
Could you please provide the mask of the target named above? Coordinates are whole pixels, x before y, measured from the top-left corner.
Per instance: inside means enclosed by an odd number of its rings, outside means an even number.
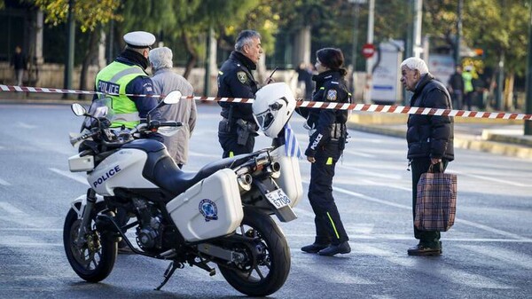
[[[149,202],[133,199],[137,208],[139,224],[137,226],[137,244],[144,250],[161,248],[160,236],[164,225],[160,210]]]

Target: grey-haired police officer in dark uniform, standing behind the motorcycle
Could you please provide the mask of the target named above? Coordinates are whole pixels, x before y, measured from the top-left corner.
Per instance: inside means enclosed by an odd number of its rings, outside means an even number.
[[[235,51],[231,52],[218,72],[218,98],[254,98],[259,89],[251,71],[261,58],[261,35],[254,30],[244,30],[237,36]],[[270,83],[270,82],[267,82]],[[257,125],[251,105],[218,102],[222,106],[223,120],[218,126],[218,140],[223,148],[223,158],[241,153],[251,153]]]

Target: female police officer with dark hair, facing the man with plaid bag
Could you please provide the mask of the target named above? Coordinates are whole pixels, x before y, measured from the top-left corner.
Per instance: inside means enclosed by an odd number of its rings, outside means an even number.
[[[347,74],[342,68],[344,58],[340,49],[324,48],[316,52],[318,74],[312,77],[316,82],[314,101],[348,103]],[[334,167],[345,147],[348,112],[330,109],[299,109],[307,118],[309,146],[305,151],[310,167],[309,201],[314,210],[316,239],[314,243],[301,248],[302,251],[320,256],[334,256],[351,252],[348,234],[340,220],[340,213],[332,197]]]

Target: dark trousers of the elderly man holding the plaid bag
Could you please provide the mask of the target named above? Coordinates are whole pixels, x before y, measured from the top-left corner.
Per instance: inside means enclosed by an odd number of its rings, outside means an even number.
[[[447,168],[449,161],[442,160],[443,170]],[[423,173],[426,173],[430,166],[430,158],[418,158],[411,161],[411,170],[412,170],[412,219],[416,218],[416,202],[418,198],[418,182],[419,177]],[[435,165],[434,165],[435,166]],[[437,170],[435,168],[434,170]],[[414,225],[414,237],[419,240],[419,244],[428,247],[428,248],[439,248],[440,247],[440,232],[426,232],[419,231],[419,229]]]

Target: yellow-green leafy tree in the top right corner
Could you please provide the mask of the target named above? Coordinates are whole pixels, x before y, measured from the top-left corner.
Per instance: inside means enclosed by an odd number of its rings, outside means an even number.
[[[426,33],[445,35],[454,47],[456,34],[457,2],[452,0],[426,0],[424,3]],[[527,0],[475,0],[464,2],[463,39],[465,44],[484,49],[483,62],[496,67],[503,62],[505,71],[505,108],[512,106],[515,75],[526,69],[528,44]],[[495,73],[494,73],[495,75]],[[492,81],[494,81],[492,78]]]

